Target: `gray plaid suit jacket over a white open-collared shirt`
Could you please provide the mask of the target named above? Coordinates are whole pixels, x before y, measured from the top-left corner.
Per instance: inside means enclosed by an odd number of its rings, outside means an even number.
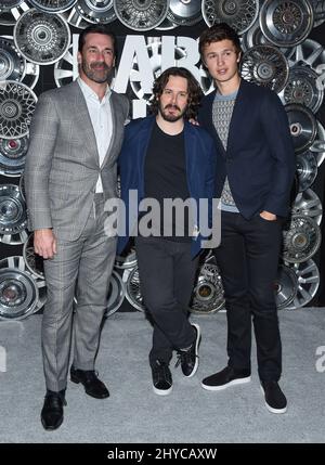
[[[95,135],[77,81],[42,93],[30,125],[25,190],[30,231],[52,228],[77,240],[86,224],[99,173],[105,199],[117,196],[116,160],[129,103],[112,91],[113,134],[100,167]]]

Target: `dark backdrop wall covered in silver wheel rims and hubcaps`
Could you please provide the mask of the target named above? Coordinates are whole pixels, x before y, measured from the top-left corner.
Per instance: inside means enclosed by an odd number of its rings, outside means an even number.
[[[221,21],[229,22],[240,34],[245,78],[278,92],[288,112],[296,146],[299,192],[292,205],[294,220],[284,233],[285,249],[274,284],[278,307],[325,305],[322,284],[325,246],[321,245],[320,237],[320,232],[325,233],[322,222],[325,2],[316,0],[271,0],[268,7],[258,0],[0,0],[0,80],[10,81],[6,93],[1,86],[2,100],[5,96],[6,103],[1,106],[2,113],[0,109],[0,259],[28,257],[24,272],[35,277],[31,272],[35,257],[24,224],[23,168],[28,146],[28,112],[41,92],[64,86],[76,77],[80,30],[89,24],[104,23],[116,34],[118,61],[123,66],[129,60],[129,76],[117,74],[113,86],[126,91],[132,101],[132,116],[141,116],[146,111],[152,80],[173,64],[188,67],[205,93],[212,90],[194,41],[207,25]],[[141,49],[138,52],[136,47]],[[321,87],[316,85],[317,79]],[[10,185],[16,185],[21,195]],[[308,267],[310,260],[314,264]],[[115,270],[120,276],[125,274],[120,282],[116,280],[117,296],[127,293],[128,297],[126,275],[129,276],[134,267],[134,249],[129,258],[117,258]],[[222,293],[217,285],[220,277],[217,280],[219,274],[213,267],[203,264],[198,273],[194,288],[196,313],[222,308]],[[310,279],[317,283],[304,288],[301,282],[309,269]],[[131,276],[134,279],[136,274]],[[39,279],[37,273],[36,279]],[[296,293],[294,297],[292,293]],[[129,303],[131,298],[125,298],[119,307],[118,299],[113,308],[123,311],[136,307]]]

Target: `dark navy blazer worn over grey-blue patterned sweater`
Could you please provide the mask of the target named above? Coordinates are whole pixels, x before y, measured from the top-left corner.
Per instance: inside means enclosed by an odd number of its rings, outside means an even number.
[[[203,99],[199,124],[217,146],[216,196],[227,175],[240,214],[250,219],[262,210],[286,217],[296,170],[286,112],[275,92],[240,81],[224,150],[212,121],[216,91]]]

